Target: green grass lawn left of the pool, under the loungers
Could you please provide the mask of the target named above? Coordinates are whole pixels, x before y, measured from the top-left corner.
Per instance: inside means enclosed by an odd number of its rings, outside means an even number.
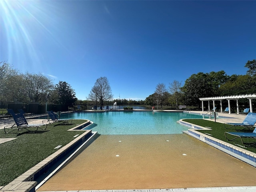
[[[67,130],[84,122],[86,120],[73,120],[72,125],[59,125],[56,122],[49,124],[46,130],[38,129],[36,133],[15,130],[13,133],[5,134],[1,129],[0,138],[17,139],[0,144],[0,186],[10,183],[56,152],[56,146],[65,146],[75,139],[73,136],[82,134],[84,131]]]

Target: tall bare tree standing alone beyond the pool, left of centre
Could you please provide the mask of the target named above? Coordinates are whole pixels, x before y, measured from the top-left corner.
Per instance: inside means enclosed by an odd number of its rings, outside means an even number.
[[[100,102],[100,106],[103,106],[105,101],[112,100],[113,95],[112,91],[106,77],[100,77],[96,80],[88,99],[96,102]]]

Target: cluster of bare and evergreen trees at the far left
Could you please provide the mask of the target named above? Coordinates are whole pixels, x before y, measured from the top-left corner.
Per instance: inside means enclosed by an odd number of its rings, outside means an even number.
[[[54,85],[43,74],[20,73],[8,62],[0,62],[0,103],[38,102],[40,104],[65,104],[72,106],[77,98],[67,82]]]

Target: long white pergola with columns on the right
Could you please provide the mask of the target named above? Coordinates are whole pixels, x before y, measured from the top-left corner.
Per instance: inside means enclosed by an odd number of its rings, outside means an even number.
[[[215,101],[220,101],[220,112],[222,112],[222,100],[228,100],[228,113],[231,114],[230,100],[236,100],[237,114],[239,114],[238,99],[247,98],[250,102],[250,112],[252,112],[252,99],[256,99],[256,94],[246,95],[231,95],[231,96],[219,96],[219,97],[205,97],[199,98],[202,101],[202,111],[204,111],[204,101],[208,101],[208,110],[210,110],[210,101],[213,102],[213,111],[215,112]]]

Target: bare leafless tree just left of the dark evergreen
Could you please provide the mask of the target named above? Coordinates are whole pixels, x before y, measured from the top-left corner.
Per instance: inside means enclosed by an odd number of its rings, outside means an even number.
[[[32,102],[44,102],[46,95],[52,90],[53,83],[48,77],[42,74],[26,73],[24,79],[24,92]]]

